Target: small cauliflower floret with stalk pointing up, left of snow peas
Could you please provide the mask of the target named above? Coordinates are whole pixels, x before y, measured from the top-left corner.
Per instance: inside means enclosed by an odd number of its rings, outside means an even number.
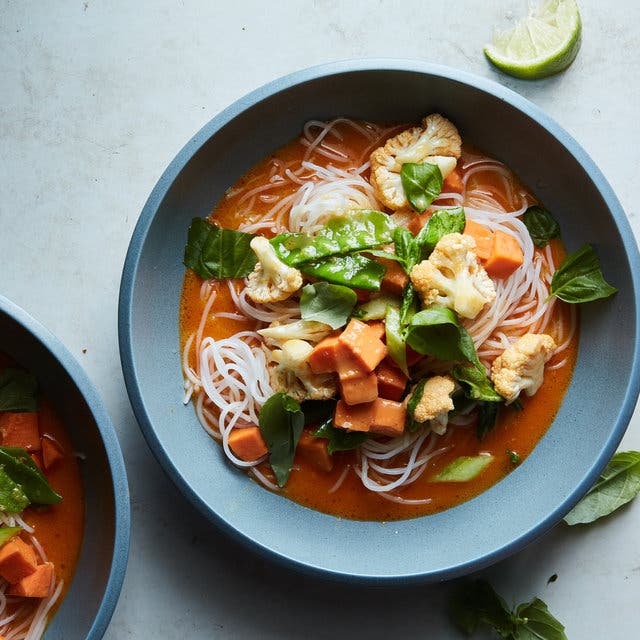
[[[258,263],[247,279],[247,295],[261,304],[291,297],[302,286],[302,274],[278,259],[271,243],[256,236],[249,245]]]

